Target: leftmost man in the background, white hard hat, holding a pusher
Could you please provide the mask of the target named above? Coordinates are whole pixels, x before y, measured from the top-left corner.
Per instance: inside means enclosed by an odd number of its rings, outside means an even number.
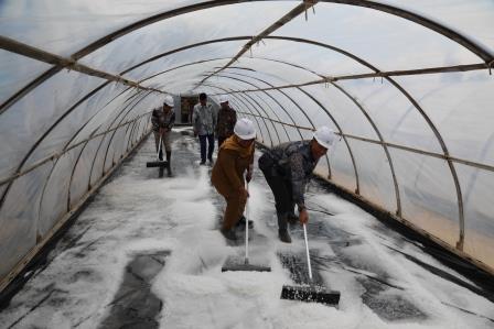
[[[154,109],[151,116],[152,132],[154,134],[154,142],[157,146],[157,152],[160,150],[159,158],[163,160],[163,147],[167,151],[167,171],[168,175],[171,175],[170,161],[172,157],[172,146],[170,132],[172,131],[173,124],[175,123],[175,112],[173,111],[173,97],[170,95],[164,97],[163,107],[161,109]],[[161,149],[160,145],[161,138]]]

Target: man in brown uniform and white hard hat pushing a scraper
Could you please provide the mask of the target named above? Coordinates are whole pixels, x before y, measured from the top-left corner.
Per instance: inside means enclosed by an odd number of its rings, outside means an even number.
[[[244,174],[246,174],[245,179],[250,182],[255,138],[256,129],[253,121],[238,120],[234,134],[219,147],[218,157],[211,174],[211,183],[226,200],[221,232],[228,240],[237,240],[234,228],[241,220],[245,204],[249,197],[245,188]]]

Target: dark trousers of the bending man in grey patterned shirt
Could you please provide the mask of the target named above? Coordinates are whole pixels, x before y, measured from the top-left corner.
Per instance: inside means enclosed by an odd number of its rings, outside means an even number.
[[[291,182],[280,176],[273,176],[268,171],[262,171],[262,174],[275,196],[278,229],[286,230],[288,216],[293,213],[296,207],[292,199]]]

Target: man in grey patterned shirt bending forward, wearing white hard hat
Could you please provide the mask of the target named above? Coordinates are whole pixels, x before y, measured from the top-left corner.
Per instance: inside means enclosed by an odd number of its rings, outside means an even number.
[[[305,209],[303,193],[305,185],[321,156],[335,140],[334,132],[327,127],[319,128],[312,140],[288,142],[272,147],[259,157],[259,168],[275,195],[278,216],[278,237],[290,243],[288,221],[307,223],[309,215]],[[294,215],[297,205],[299,216]]]

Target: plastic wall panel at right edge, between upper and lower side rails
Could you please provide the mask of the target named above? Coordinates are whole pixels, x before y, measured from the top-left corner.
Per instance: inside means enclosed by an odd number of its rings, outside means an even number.
[[[487,70],[397,80],[420,99],[452,156],[494,165],[494,79]]]

